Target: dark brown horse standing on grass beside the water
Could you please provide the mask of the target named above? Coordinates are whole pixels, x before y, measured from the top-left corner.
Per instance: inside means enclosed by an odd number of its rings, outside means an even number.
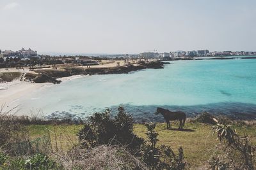
[[[185,121],[186,121],[186,114],[184,112],[170,111],[170,110],[165,110],[163,108],[157,108],[155,114],[158,115],[159,113],[163,115],[167,124],[167,129],[171,128],[170,120],[179,120],[180,121],[179,129],[183,129],[183,126],[185,125]]]

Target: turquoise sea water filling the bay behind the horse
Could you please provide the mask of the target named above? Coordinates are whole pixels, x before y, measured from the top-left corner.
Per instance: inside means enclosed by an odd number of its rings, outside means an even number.
[[[52,117],[88,117],[104,108],[125,106],[137,120],[158,120],[157,106],[256,118],[256,59],[177,60],[164,69],[84,76],[38,89],[22,108]]]

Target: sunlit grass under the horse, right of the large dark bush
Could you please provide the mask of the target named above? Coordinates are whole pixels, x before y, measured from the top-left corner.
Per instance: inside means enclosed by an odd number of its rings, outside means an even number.
[[[178,122],[175,122],[172,128],[177,127],[179,127]],[[252,142],[256,144],[256,126],[235,124],[234,127],[238,134],[243,134],[243,132],[249,134]],[[166,124],[157,124],[156,132],[159,133],[157,145],[171,146],[173,150],[182,146],[189,167],[194,169],[205,166],[210,157],[216,153],[216,147],[220,145],[220,142],[216,141],[216,136],[212,136],[212,125],[187,122],[184,128],[185,131],[168,130]],[[147,138],[145,135],[147,128],[144,125],[134,125],[134,132],[140,137]]]

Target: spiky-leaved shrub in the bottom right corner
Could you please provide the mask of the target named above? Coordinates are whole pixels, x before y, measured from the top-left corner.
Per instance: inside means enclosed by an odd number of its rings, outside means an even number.
[[[239,136],[231,125],[219,124],[212,127],[213,134],[225,144],[223,154],[213,157],[209,163],[212,169],[228,167],[228,169],[254,169],[256,148],[250,142],[248,135]],[[221,158],[228,159],[221,159]]]

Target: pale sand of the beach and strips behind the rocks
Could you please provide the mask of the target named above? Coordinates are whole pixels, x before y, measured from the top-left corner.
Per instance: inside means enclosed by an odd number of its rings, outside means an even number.
[[[118,63],[118,64],[117,64]],[[70,67],[70,64],[58,64],[58,70],[62,70],[63,67]],[[102,68],[102,67],[116,67],[116,66],[125,66],[124,60],[102,60],[97,66],[90,66],[93,68]],[[137,65],[137,64],[134,64]],[[84,67],[86,66],[76,66],[76,67]],[[52,68],[45,68],[52,69]],[[37,74],[35,71],[30,71],[28,67],[24,67],[24,69],[15,69],[8,68],[0,69],[0,73],[32,73]],[[86,75],[77,74],[73,76],[67,76],[63,78],[57,78],[56,80],[61,80],[62,82],[74,80],[76,78],[83,78]],[[19,79],[15,79],[10,82],[2,82],[0,83],[0,108],[3,108],[2,112],[6,112],[11,110],[12,108],[17,107],[17,109],[13,110],[13,112],[22,108],[20,103],[22,103],[22,99],[24,97],[29,96],[31,93],[36,90],[40,90],[42,88],[47,88],[54,86],[53,83],[33,83],[31,81],[20,81]],[[1,110],[1,109],[0,109]],[[17,113],[18,115],[18,113]]]

